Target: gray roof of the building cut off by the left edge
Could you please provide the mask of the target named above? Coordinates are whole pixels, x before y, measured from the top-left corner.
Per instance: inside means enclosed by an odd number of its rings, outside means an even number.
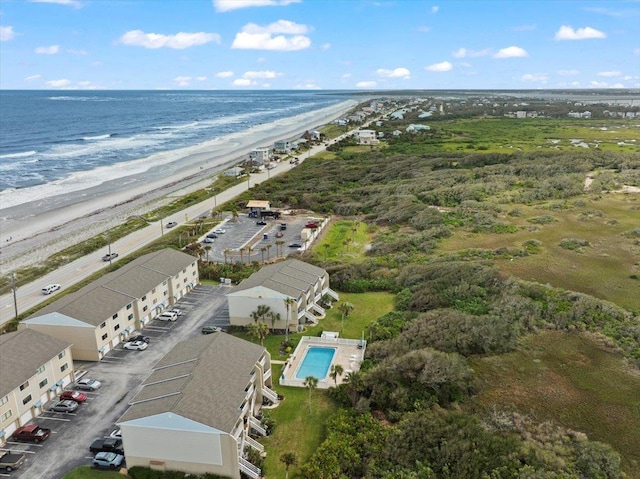
[[[71,343],[32,329],[0,334],[0,397],[31,378]]]

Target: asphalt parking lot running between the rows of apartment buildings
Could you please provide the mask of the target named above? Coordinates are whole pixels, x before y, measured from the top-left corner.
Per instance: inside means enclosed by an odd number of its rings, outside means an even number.
[[[140,331],[150,338],[145,351],[125,350],[119,345],[100,362],[74,362],[76,376],[99,380],[100,389],[83,391],[87,400],[72,413],[49,411],[55,401],[45,404],[44,412],[31,423],[51,429],[51,437],[40,444],[9,439],[2,450],[23,452],[27,457],[20,469],[2,472],[0,477],[56,479],[75,467],[91,464],[89,445],[116,429],[115,421],[126,411],[153,365],[177,342],[199,336],[204,324],[228,326],[228,291],[226,286],[197,286],[175,305],[183,312],[177,321],[153,320]]]

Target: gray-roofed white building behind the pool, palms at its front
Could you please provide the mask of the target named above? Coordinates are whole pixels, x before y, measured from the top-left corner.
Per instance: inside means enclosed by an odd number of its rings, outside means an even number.
[[[270,327],[296,331],[306,322],[315,324],[318,317],[324,316],[320,303],[325,295],[339,299],[329,287],[329,275],[324,269],[297,259],[270,264],[227,294],[229,322],[232,326],[251,324],[254,321],[251,313],[265,305],[274,315],[279,315],[279,319],[267,321]],[[287,310],[285,300],[289,298],[295,304]]]

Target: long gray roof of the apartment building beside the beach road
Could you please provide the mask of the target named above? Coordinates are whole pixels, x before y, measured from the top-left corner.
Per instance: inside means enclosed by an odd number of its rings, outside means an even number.
[[[63,296],[29,318],[57,312],[98,326],[194,261],[197,259],[193,256],[173,249],[146,254]]]

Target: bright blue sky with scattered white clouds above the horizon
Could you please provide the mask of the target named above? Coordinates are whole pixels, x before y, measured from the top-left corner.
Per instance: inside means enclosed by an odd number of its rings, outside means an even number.
[[[640,0],[2,0],[0,89],[640,88]]]

